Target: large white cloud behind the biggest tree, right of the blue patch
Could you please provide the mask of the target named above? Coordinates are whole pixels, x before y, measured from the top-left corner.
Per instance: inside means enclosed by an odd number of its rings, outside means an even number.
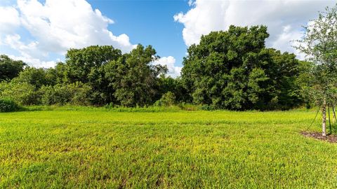
[[[303,36],[301,26],[317,18],[319,10],[335,3],[324,0],[196,0],[189,1],[191,9],[174,15],[174,20],[185,26],[186,45],[199,43],[201,35],[226,30],[230,25],[267,25],[270,32],[267,46],[296,52],[290,41]]]

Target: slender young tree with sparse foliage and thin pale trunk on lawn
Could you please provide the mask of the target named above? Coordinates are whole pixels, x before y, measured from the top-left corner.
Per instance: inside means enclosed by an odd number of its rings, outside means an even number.
[[[326,106],[334,106],[337,100],[337,5],[311,20],[298,42],[298,50],[315,64],[310,72],[311,94],[322,106],[322,135],[326,136]]]

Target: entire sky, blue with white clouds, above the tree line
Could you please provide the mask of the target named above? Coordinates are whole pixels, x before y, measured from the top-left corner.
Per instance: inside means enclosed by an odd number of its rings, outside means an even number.
[[[152,45],[156,64],[179,76],[189,45],[230,25],[266,25],[267,47],[300,55],[291,45],[303,25],[336,1],[324,0],[1,0],[0,54],[51,67],[70,48],[113,45],[129,52]]]

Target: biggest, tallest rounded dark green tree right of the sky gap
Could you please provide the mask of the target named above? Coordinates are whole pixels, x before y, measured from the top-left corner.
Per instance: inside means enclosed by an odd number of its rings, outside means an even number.
[[[267,27],[202,36],[184,58],[182,80],[194,103],[221,109],[289,109],[298,104],[295,55],[265,48]]]

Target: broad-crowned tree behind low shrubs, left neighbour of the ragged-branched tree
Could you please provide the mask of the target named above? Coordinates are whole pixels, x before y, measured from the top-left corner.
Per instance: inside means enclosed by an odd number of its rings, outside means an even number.
[[[93,89],[93,103],[107,104],[114,100],[114,89],[105,78],[105,65],[122,57],[121,50],[110,45],[70,49],[66,63],[56,67],[58,75],[67,83],[88,83]],[[61,72],[61,73],[59,73]]]

